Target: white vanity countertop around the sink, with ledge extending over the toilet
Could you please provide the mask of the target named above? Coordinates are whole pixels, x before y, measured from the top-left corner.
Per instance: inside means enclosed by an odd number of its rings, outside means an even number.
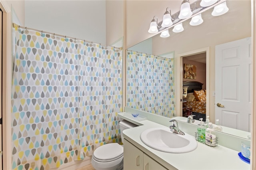
[[[148,154],[154,160],[168,169],[175,167],[178,170],[249,170],[250,164],[241,160],[238,151],[224,146],[210,147],[198,143],[195,150],[188,153],[173,154],[154,150],[146,146],[140,140],[140,134],[149,128],[166,127],[152,121],[136,121],[126,116],[126,113],[118,113],[122,119],[140,125],[123,131],[124,138],[134,146]]]

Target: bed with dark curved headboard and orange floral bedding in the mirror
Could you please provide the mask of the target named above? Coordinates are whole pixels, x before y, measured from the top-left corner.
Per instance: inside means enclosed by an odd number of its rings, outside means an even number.
[[[206,119],[206,90],[202,89],[203,83],[198,81],[183,82],[183,87],[188,87],[186,95],[185,115],[195,115],[194,119]]]

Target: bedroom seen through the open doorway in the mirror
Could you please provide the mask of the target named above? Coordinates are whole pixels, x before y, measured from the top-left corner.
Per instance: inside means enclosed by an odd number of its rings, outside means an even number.
[[[182,115],[206,119],[206,53],[182,57]]]

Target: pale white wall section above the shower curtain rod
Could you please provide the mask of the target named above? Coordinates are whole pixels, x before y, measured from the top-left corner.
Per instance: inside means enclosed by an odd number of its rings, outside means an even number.
[[[106,1],[26,0],[25,26],[106,44]]]

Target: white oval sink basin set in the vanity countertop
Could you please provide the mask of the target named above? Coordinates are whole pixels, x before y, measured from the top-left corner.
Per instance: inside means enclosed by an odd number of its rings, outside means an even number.
[[[150,128],[140,134],[140,139],[150,148],[169,153],[186,153],[197,148],[194,136],[171,132],[169,128]]]

